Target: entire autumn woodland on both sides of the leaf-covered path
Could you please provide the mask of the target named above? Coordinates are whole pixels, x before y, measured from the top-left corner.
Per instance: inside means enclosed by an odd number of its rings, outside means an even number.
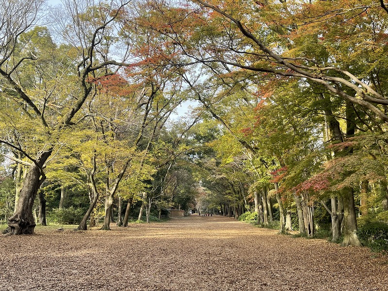
[[[176,208],[387,247],[383,1],[0,0],[0,13],[7,235]]]

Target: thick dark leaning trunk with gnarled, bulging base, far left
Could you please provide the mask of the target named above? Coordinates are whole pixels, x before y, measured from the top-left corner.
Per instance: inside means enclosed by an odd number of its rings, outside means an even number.
[[[33,163],[30,166],[20,191],[16,210],[14,214],[8,218],[7,235],[34,233],[36,224],[32,215],[32,206],[39,187],[46,178],[37,164],[42,166],[49,158],[50,154],[51,151],[41,153],[38,159],[36,159],[36,164]]]

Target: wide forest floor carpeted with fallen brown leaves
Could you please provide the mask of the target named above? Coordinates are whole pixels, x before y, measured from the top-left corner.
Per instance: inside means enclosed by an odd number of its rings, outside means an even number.
[[[388,290],[388,258],[222,216],[0,236],[0,291]]]

